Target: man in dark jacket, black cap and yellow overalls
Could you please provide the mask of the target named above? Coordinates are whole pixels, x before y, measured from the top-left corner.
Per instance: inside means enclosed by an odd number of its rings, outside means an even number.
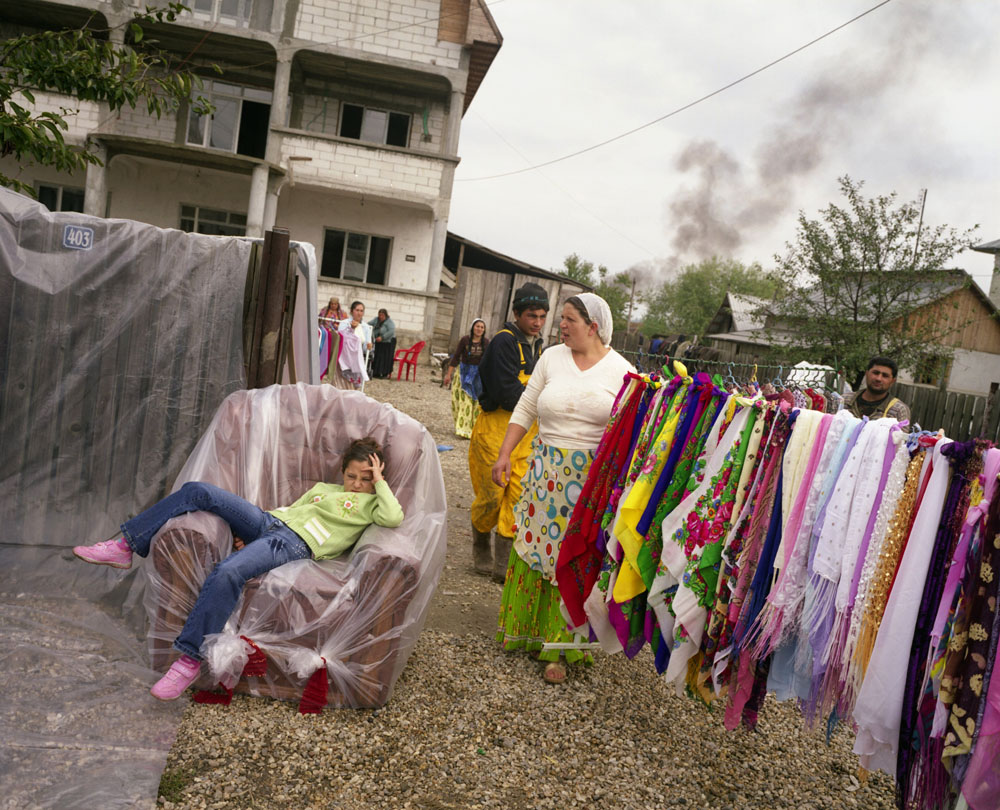
[[[493,483],[492,468],[500,453],[511,412],[521,398],[535,363],[542,353],[540,337],[549,311],[549,296],[537,284],[527,283],[514,293],[514,320],[503,325],[490,340],[479,362],[483,412],[476,419],[469,440],[469,474],[476,494],[469,509],[472,517],[472,559],[476,571],[504,581],[514,538],[514,506],[521,497],[521,478],[537,427],[532,426],[511,454],[507,486]],[[496,528],[495,552],[490,553],[490,533]]]

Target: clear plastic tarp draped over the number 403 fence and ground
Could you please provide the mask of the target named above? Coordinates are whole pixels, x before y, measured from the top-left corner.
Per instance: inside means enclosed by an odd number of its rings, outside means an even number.
[[[243,387],[251,245],[0,189],[0,808],[152,807],[183,712],[142,571],[87,565]]]

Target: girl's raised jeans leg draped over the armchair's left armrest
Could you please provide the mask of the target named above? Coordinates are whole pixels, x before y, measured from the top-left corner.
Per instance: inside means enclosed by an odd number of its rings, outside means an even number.
[[[149,545],[160,527],[170,518],[187,512],[211,512],[218,515],[233,530],[233,534],[249,543],[258,537],[271,518],[239,495],[212,484],[191,481],[177,492],[122,524],[122,537],[140,557],[149,554]]]

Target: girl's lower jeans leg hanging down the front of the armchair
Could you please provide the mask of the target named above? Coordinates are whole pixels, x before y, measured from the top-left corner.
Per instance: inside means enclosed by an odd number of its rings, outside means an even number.
[[[247,543],[230,554],[208,575],[184,629],[174,641],[175,649],[200,660],[205,636],[222,632],[247,580],[279,565],[311,556],[309,546],[301,537],[277,518],[270,515],[267,518],[268,523],[256,542]]]

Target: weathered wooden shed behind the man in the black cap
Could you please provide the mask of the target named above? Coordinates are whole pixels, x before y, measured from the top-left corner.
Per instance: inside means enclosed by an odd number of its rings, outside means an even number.
[[[475,318],[486,321],[487,335],[495,334],[504,321],[513,317],[514,291],[528,281],[543,287],[549,294],[552,308],[544,334],[546,342],[557,341],[559,318],[553,313],[562,309],[567,298],[591,289],[451,232],[445,243],[444,266],[441,295],[452,299],[454,304],[450,324],[446,317],[439,318],[439,326],[434,330],[435,352],[454,349]],[[446,311],[439,305],[439,313],[445,315]]]

